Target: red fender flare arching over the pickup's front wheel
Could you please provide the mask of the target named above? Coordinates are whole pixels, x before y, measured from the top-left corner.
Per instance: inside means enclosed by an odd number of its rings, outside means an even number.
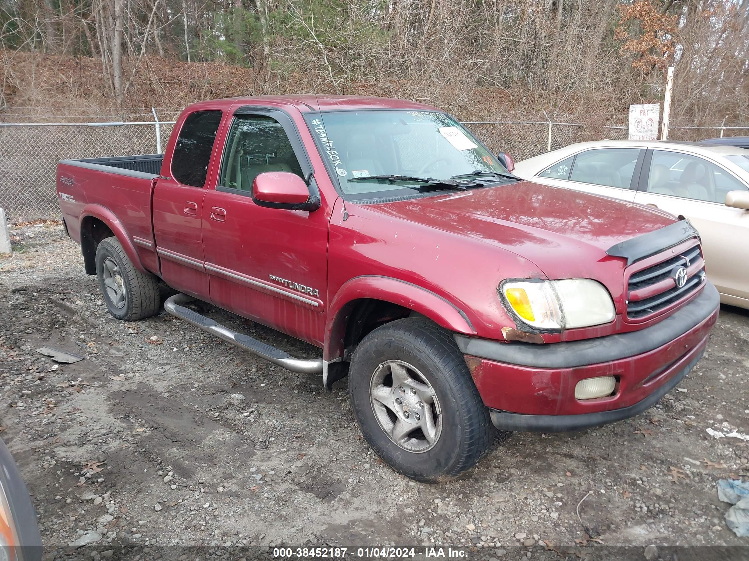
[[[428,317],[449,331],[476,334],[473,323],[464,311],[435,292],[397,278],[364,275],[344,283],[330,302],[325,322],[324,361],[333,362],[343,357],[348,317],[354,309],[354,302],[361,298],[398,304]]]

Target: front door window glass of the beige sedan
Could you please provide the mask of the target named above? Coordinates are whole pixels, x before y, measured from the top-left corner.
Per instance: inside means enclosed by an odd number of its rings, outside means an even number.
[[[746,191],[741,181],[699,156],[653,150],[648,176],[649,193],[723,203],[728,191]]]

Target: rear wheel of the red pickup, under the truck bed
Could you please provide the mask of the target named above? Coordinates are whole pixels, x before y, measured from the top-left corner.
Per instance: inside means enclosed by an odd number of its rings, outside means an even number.
[[[136,269],[117,238],[105,238],[97,245],[96,272],[107,310],[115,318],[134,322],[159,312],[158,279]],[[108,289],[106,283],[110,280],[118,289],[118,296]]]

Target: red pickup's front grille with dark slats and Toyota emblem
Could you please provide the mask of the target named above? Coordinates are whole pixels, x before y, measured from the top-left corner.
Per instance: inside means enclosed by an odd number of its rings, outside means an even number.
[[[678,286],[679,270],[686,269],[685,282]],[[695,244],[679,255],[637,270],[637,263],[631,266],[634,272],[627,285],[627,317],[643,320],[670,306],[697,290],[705,282],[705,261],[700,245]]]

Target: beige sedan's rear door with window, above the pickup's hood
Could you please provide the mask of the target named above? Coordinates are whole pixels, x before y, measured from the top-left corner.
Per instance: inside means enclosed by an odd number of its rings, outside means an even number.
[[[643,153],[640,148],[594,148],[557,162],[538,176],[554,186],[631,202]]]

